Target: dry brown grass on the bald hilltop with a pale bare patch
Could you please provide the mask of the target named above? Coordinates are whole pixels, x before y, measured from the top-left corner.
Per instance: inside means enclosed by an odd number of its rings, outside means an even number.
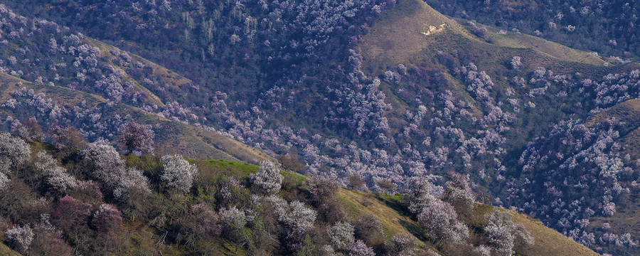
[[[440,31],[442,24],[444,26]],[[436,31],[426,35],[430,26],[434,26]],[[495,75],[494,82],[497,84],[507,82],[501,81],[501,75],[498,74],[508,68],[508,61],[515,55],[521,56],[523,63],[528,66],[523,70],[525,72],[537,67],[570,74],[606,75],[614,72],[615,68],[604,67],[604,60],[590,53],[525,34],[498,35],[496,28],[487,28],[489,39],[484,40],[452,18],[439,14],[424,1],[400,0],[392,9],[385,11],[369,33],[363,36],[360,45],[364,58],[363,71],[378,75],[385,70],[395,69],[401,63],[407,67],[443,68],[437,63],[438,51],[458,50],[473,55],[476,65],[489,75]]]

